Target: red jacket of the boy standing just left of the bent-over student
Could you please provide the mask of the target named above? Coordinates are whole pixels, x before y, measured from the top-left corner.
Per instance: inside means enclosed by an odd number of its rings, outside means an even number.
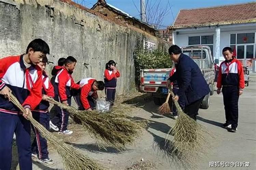
[[[71,97],[70,90],[80,88],[79,84],[76,84],[65,67],[57,73],[55,78],[55,95],[59,96],[60,101],[66,101],[69,97]]]

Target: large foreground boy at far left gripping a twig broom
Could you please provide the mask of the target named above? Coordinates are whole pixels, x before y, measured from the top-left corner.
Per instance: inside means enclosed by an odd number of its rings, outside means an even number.
[[[42,71],[37,64],[49,54],[42,39],[34,39],[26,54],[0,59],[0,169],[10,170],[13,134],[16,135],[19,169],[32,170],[30,122],[31,109],[42,99]],[[26,114],[10,101],[13,94],[23,105]],[[9,98],[9,99],[8,99]]]

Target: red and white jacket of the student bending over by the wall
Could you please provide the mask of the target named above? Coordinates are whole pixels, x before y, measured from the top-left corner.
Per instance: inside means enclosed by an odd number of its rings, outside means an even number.
[[[80,81],[80,85],[83,84],[83,87],[81,89],[80,100],[82,102],[84,109],[90,108],[90,104],[88,102],[87,97],[91,96],[91,95],[97,95],[97,91],[93,91],[93,89],[92,89],[93,83],[95,81],[96,80],[93,78],[82,79]]]

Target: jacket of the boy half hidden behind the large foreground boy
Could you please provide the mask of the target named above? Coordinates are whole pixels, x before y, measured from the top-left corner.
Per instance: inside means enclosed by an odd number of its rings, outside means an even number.
[[[42,94],[54,98],[54,88],[46,72],[43,72]],[[33,110],[35,112],[47,113],[50,104],[48,101],[41,100],[40,104]]]

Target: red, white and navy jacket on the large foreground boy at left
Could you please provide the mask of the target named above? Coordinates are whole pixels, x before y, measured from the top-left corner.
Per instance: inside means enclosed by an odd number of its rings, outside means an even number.
[[[26,68],[23,56],[0,59],[0,90],[8,86],[24,108],[34,109],[42,99],[42,71],[37,65]],[[0,96],[0,112],[18,114],[19,109]]]

